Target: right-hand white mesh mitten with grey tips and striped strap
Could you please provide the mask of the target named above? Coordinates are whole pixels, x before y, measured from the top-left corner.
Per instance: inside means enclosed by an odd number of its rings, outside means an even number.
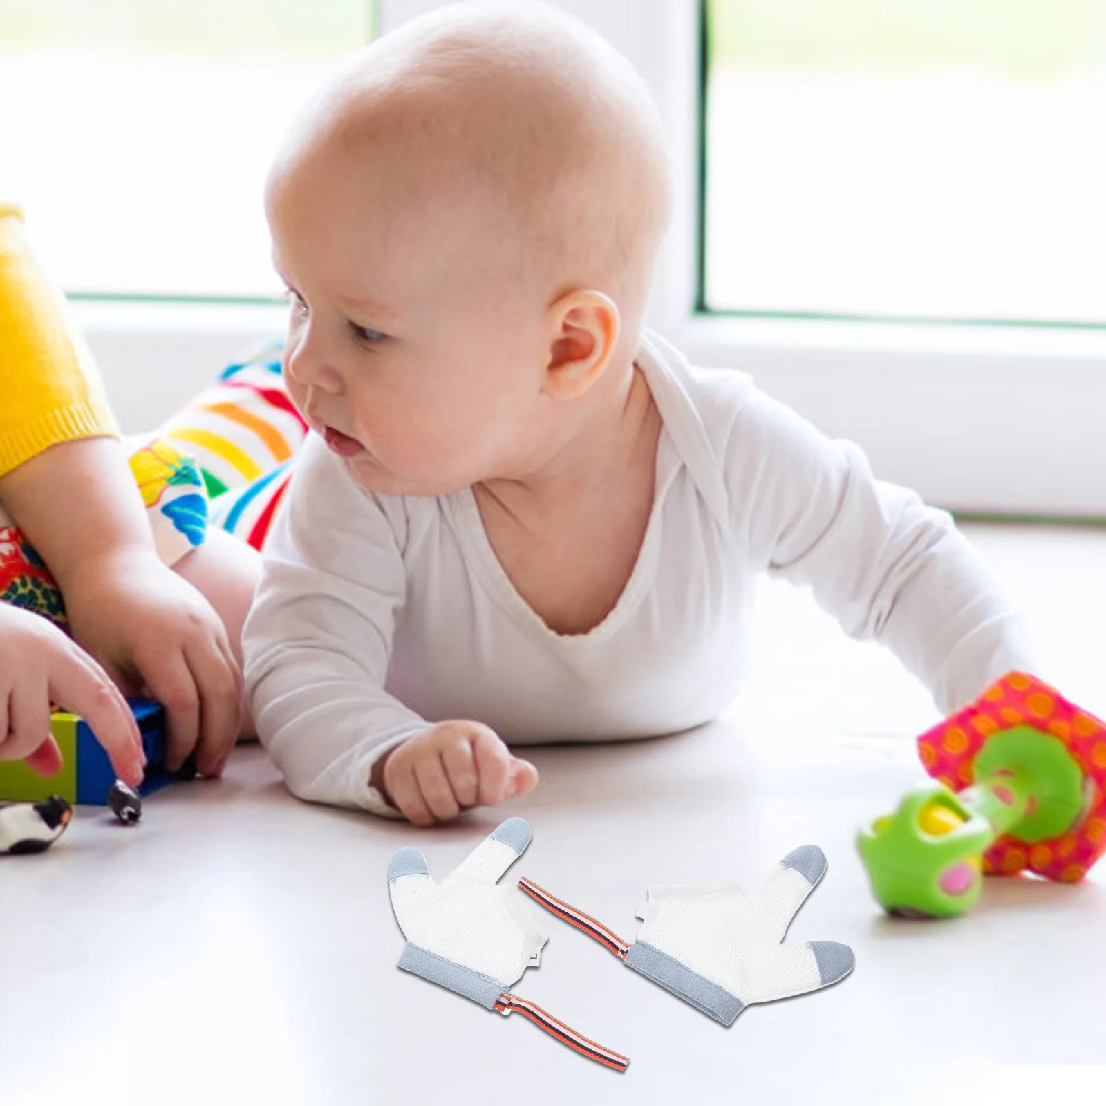
[[[525,877],[519,886],[628,968],[729,1025],[753,1002],[814,991],[853,970],[847,945],[780,943],[825,869],[822,849],[803,845],[753,895],[744,895],[737,884],[650,887],[648,901],[637,910],[643,925],[633,945]]]

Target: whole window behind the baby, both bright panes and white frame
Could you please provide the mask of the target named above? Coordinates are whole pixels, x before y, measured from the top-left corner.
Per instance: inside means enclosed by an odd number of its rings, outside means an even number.
[[[445,2],[376,0],[374,25],[385,32]],[[656,330],[695,364],[748,371],[827,434],[859,442],[880,476],[935,503],[1106,518],[1106,0],[552,2],[630,60],[668,128],[676,202],[650,305]],[[27,205],[35,242],[49,244],[70,289],[268,295],[276,285],[259,202],[264,166],[319,71],[368,38],[368,8],[0,0],[0,191]],[[709,83],[707,17],[719,77]],[[30,63],[32,50],[46,69]],[[98,70],[108,90],[124,61],[165,64],[138,70],[145,77],[113,98],[74,81],[66,56],[90,55],[109,59]],[[186,64],[192,76],[176,84],[184,108],[163,107],[150,133],[136,132],[134,102],[153,100],[158,81]],[[723,111],[724,72],[739,91],[760,80],[814,106],[773,118],[766,101],[752,112],[742,92]],[[876,134],[878,104],[857,94],[852,144],[832,113],[812,127],[818,105],[803,92],[830,74],[839,104],[849,73],[872,97],[884,94],[880,82],[897,90],[901,113]],[[959,105],[975,121],[971,133],[948,108],[935,114],[927,92],[953,79],[975,90]],[[726,137],[733,125],[744,146]],[[220,136],[213,157],[204,131]],[[800,154],[806,179],[795,177]],[[843,182],[849,157],[866,159],[856,187],[870,202],[857,204]],[[283,325],[276,307],[230,303],[85,301],[79,312],[134,430]],[[1033,321],[1060,325],[1020,325]]]

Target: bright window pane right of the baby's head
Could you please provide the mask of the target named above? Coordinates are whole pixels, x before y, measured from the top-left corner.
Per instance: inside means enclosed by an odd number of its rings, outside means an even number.
[[[700,306],[1106,325],[1106,0],[708,0]]]

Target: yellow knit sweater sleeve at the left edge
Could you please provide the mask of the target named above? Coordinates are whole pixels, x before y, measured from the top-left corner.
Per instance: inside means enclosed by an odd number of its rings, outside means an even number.
[[[44,449],[117,437],[100,374],[23,233],[0,201],[0,477]]]

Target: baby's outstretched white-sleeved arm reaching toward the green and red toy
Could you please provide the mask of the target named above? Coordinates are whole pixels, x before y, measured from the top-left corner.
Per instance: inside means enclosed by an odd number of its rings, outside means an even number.
[[[876,480],[852,442],[753,392],[728,479],[754,561],[808,585],[852,637],[888,646],[943,713],[1036,670],[1021,616],[950,515]]]

